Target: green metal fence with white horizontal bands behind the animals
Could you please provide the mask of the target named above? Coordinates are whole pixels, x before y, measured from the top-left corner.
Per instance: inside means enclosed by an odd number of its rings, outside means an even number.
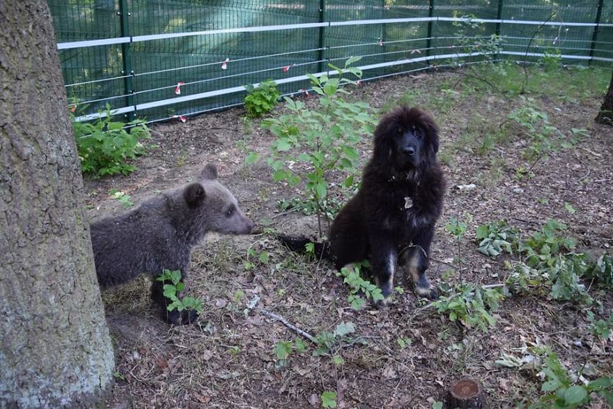
[[[613,67],[613,1],[49,0],[68,99],[82,118],[163,121],[240,104],[273,79],[304,92],[304,74],[362,56],[364,80],[482,61]],[[481,49],[479,48],[481,47]]]

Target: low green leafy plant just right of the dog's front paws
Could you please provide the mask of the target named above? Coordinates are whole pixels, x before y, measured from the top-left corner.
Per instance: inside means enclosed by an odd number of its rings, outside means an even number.
[[[448,314],[449,321],[459,321],[467,328],[479,327],[483,332],[496,323],[490,314],[499,307],[504,295],[496,288],[481,288],[470,283],[458,284],[453,293],[432,302],[439,313]]]

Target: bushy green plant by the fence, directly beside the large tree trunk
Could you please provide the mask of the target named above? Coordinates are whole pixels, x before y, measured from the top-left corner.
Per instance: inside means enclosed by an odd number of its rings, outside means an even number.
[[[98,177],[127,175],[137,169],[128,161],[145,153],[142,140],[150,139],[150,132],[144,121],[114,122],[109,105],[106,116],[91,123],[77,122],[72,114],[71,117],[83,173]]]

